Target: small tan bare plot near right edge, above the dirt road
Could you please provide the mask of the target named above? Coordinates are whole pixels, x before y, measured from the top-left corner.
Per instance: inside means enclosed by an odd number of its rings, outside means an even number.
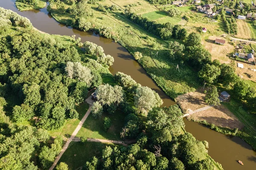
[[[250,31],[248,24],[244,20],[236,20],[236,24],[238,28],[236,37],[239,37],[242,39],[251,38],[252,33]]]

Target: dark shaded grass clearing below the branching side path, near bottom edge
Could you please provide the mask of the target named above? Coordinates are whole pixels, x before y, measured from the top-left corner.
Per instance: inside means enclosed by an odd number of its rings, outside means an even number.
[[[76,170],[83,167],[86,161],[90,161],[93,156],[99,158],[102,155],[102,150],[111,144],[98,142],[71,142],[67,150],[58,161],[65,162],[69,170]],[[113,145],[112,145],[113,146]]]

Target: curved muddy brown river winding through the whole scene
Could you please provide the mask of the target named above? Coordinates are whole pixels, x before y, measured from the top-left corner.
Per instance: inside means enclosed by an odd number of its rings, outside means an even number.
[[[164,106],[175,104],[175,102],[148,76],[140,64],[134,60],[134,57],[131,56],[124,47],[113,40],[64,26],[55,21],[48,14],[46,8],[20,12],[15,6],[15,0],[0,0],[0,6],[11,9],[23,17],[27,17],[33,26],[40,31],[49,34],[76,35],[76,37],[81,37],[81,42],[90,41],[102,46],[105,54],[110,54],[115,59],[114,64],[110,68],[112,74],[115,74],[117,71],[128,74],[136,82],[156,91],[163,99]],[[198,140],[206,140],[209,142],[209,155],[215,161],[222,164],[225,170],[256,170],[256,152],[242,139],[223,135],[204,125],[188,121],[187,119],[184,119],[184,122],[187,132],[192,133]],[[240,165],[237,162],[238,160],[243,161],[244,165]]]

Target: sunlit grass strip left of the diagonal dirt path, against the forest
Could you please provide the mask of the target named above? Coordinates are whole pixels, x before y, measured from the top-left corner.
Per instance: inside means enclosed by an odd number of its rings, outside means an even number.
[[[61,129],[49,131],[49,134],[51,136],[61,135],[69,138],[72,135],[73,131],[76,129],[81,119],[84,117],[88,108],[89,108],[89,105],[86,102],[81,103],[79,106],[76,106],[76,111],[79,113],[79,118],[68,120],[65,123],[65,125],[61,127]]]

